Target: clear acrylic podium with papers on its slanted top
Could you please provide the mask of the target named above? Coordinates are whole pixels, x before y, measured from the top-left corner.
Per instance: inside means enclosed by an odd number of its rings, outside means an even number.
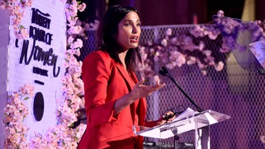
[[[133,126],[133,132],[135,135],[157,139],[174,137],[175,145],[179,138],[178,135],[194,130],[195,149],[208,149],[210,148],[210,125],[227,119],[230,119],[230,116],[213,110],[206,110],[153,128]]]

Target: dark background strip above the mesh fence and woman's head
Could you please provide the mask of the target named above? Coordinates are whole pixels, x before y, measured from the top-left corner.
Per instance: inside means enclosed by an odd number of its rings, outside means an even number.
[[[108,7],[126,5],[136,8],[143,26],[190,24],[193,16],[197,23],[209,23],[213,14],[223,10],[226,17],[241,19],[244,0],[82,0],[86,10],[79,13],[79,19],[86,22],[100,20]],[[255,2],[255,19],[265,19],[265,1]]]

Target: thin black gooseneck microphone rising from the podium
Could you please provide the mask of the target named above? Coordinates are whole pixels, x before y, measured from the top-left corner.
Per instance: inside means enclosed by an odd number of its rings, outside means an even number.
[[[182,94],[184,94],[185,97],[191,103],[193,103],[193,106],[195,106],[195,108],[197,108],[198,112],[202,112],[203,111],[202,108],[199,108],[199,106],[197,106],[197,104],[195,103],[195,101],[193,101],[193,99],[191,99],[190,96],[188,96],[188,94],[179,86],[179,84],[175,81],[175,79],[170,75],[170,73],[168,72],[168,68],[166,68],[165,66],[162,66],[161,70],[159,70],[159,74],[161,74],[162,76],[166,76],[171,81],[173,81],[173,83],[175,84],[175,86],[177,86],[177,88],[182,92]]]

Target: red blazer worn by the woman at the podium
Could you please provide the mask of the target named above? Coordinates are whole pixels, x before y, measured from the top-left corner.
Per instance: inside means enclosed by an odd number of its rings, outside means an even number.
[[[146,99],[138,99],[113,115],[116,99],[132,90],[137,77],[110,58],[107,52],[88,54],[83,61],[87,128],[78,148],[142,148],[143,137],[133,134],[133,125],[144,126]]]

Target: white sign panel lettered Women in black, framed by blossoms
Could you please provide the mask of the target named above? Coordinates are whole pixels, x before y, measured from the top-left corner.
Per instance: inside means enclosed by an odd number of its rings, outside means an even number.
[[[3,16],[3,18],[2,18]],[[16,39],[9,27],[8,13],[1,10],[1,115],[7,94],[30,83],[35,87],[35,97],[26,101],[29,115],[24,121],[32,132],[43,134],[57,124],[55,111],[61,99],[63,54],[66,51],[66,15],[62,1],[35,0],[25,10],[21,25],[29,33],[28,39]],[[7,32],[9,36],[7,35]],[[8,41],[9,39],[9,41]],[[33,107],[35,110],[33,110]],[[1,128],[3,134],[4,128]],[[1,135],[0,146],[3,146]]]

